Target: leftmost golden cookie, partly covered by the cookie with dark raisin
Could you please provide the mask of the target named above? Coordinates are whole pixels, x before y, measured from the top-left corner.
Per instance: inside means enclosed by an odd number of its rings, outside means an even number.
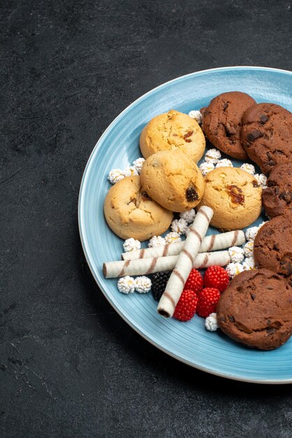
[[[173,213],[143,192],[140,176],[128,176],[112,185],[105,197],[105,220],[122,239],[144,241],[168,229]]]

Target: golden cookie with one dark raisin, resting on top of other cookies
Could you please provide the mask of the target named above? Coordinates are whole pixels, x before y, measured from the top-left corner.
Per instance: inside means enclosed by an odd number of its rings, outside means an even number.
[[[162,150],[143,163],[143,190],[165,209],[194,209],[203,196],[205,183],[197,165],[180,150]]]

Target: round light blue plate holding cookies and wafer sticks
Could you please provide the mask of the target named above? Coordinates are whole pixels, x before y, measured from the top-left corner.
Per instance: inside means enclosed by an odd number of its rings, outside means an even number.
[[[129,167],[141,156],[140,132],[154,115],[171,108],[188,113],[206,106],[217,94],[233,90],[247,92],[258,102],[274,102],[292,110],[291,72],[224,67],[170,80],[133,102],[111,123],[89,157],[82,178],[78,211],[82,246],[92,274],[110,304],[134,330],[165,353],[229,379],[292,383],[292,339],[274,351],[244,348],[220,330],[207,332],[205,320],[198,316],[188,323],[161,318],[151,293],[122,295],[117,291],[116,279],[103,278],[103,262],[119,260],[123,243],[103,217],[103,202],[110,188],[108,171]]]

